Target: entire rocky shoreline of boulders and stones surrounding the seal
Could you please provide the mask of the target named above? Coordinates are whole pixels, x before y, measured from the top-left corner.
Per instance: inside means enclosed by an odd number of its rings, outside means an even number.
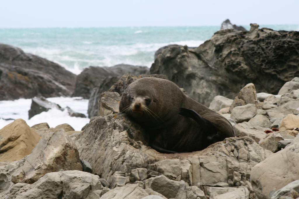
[[[142,77],[175,82],[227,118],[236,137],[202,151],[155,151],[118,109],[123,91]],[[9,90],[19,85],[23,93]],[[1,100],[40,97],[33,115],[61,108],[41,96],[63,95],[89,98],[89,124],[74,131],[17,119],[0,129],[1,199],[299,197],[299,32],[256,24],[220,30],[197,48],[159,49],[150,70],[89,67],[77,80],[58,64],[0,45]]]

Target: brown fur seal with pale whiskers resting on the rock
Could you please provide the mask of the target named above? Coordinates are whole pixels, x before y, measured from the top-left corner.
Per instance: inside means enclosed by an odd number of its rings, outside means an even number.
[[[132,82],[119,110],[144,127],[149,145],[162,153],[199,151],[235,136],[228,120],[165,79],[145,77]]]

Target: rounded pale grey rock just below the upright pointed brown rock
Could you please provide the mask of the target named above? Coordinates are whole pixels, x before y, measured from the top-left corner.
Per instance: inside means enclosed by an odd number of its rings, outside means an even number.
[[[257,115],[257,108],[254,104],[246,104],[244,106],[235,107],[231,111],[231,118],[236,123],[247,122]]]

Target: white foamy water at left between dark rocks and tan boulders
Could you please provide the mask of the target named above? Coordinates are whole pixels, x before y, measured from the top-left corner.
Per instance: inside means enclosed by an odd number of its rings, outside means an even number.
[[[75,112],[80,112],[87,115],[88,100],[80,97],[57,97],[48,98],[48,101],[59,104],[61,107],[66,106],[73,109]],[[28,119],[28,110],[30,109],[31,99],[18,99],[14,101],[0,101],[0,129],[13,122],[13,120],[6,121],[2,118],[18,119],[21,118],[27,122],[29,126],[47,122],[50,127],[56,127],[59,124],[67,123],[71,125],[75,130],[81,130],[81,128],[89,122],[89,118],[77,118],[70,117],[68,112],[60,111],[58,109],[50,109],[47,112],[42,112],[38,115]]]

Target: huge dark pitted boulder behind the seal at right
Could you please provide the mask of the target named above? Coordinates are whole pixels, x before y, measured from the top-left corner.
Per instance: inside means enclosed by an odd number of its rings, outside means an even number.
[[[257,27],[220,30],[194,49],[169,46],[157,55],[150,72],[167,75],[206,106],[216,95],[234,98],[248,83],[259,92],[277,94],[299,76],[299,34]]]

